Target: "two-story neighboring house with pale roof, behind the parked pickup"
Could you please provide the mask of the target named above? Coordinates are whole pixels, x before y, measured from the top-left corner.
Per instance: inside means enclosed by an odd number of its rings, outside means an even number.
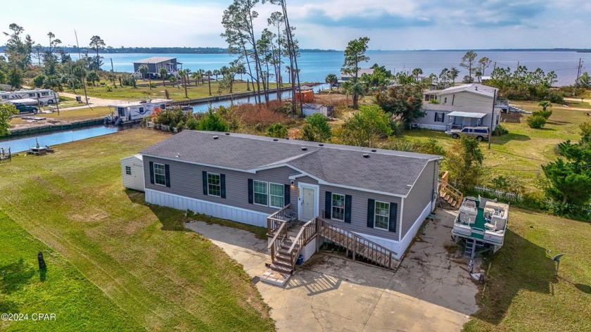
[[[463,84],[444,90],[424,92],[425,116],[412,122],[413,127],[433,130],[452,128],[496,127],[500,121],[502,104],[496,103],[495,90],[482,84]],[[433,102],[434,101],[434,102]],[[495,115],[492,105],[495,104]]]

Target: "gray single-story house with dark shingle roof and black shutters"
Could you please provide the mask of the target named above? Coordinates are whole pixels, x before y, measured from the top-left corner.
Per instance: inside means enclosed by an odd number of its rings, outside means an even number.
[[[191,130],[140,154],[147,203],[256,226],[291,205],[297,219],[330,219],[396,258],[435,208],[442,159]]]

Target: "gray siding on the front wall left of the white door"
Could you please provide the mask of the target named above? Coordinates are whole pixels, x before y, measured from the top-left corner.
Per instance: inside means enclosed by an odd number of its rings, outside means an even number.
[[[158,162],[161,164],[170,165],[170,188],[150,183],[149,162]],[[289,176],[296,173],[289,167],[279,167],[272,170],[263,170],[257,174],[252,174],[234,170],[223,170],[215,167],[205,167],[175,160],[151,158],[145,155],[144,170],[146,189],[153,189],[165,193],[173,193],[179,196],[229,205],[246,210],[265,212],[269,215],[278,209],[248,203],[248,179],[273,182],[276,184],[290,184]],[[216,174],[225,174],[226,198],[206,196],[203,194],[203,171]],[[297,196],[297,189],[292,189],[290,196],[291,202],[294,202],[293,198],[295,196]],[[297,198],[295,198],[295,202],[297,207]]]

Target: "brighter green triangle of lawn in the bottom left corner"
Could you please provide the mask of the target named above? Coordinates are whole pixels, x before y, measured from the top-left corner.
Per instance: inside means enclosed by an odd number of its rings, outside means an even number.
[[[117,307],[56,251],[0,212],[0,312],[27,314],[28,320],[0,321],[2,331],[138,331],[143,327]],[[42,252],[46,271],[39,271]],[[33,321],[33,313],[56,314]]]

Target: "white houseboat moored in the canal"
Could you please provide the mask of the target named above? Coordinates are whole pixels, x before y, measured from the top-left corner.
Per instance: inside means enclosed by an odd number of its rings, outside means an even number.
[[[155,110],[165,110],[166,104],[172,99],[155,98],[145,101],[130,101],[129,103],[118,103],[110,105],[113,109],[110,115],[107,115],[103,122],[105,125],[124,125],[129,122],[137,122],[144,117],[152,115]]]

